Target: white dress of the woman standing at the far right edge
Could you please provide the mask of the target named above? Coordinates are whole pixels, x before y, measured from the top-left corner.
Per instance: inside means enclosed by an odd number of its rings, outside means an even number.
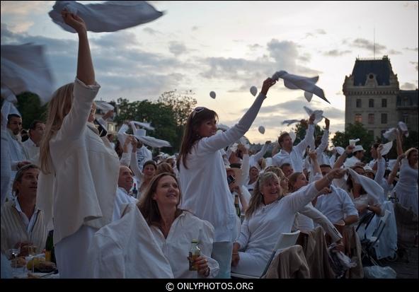
[[[406,158],[401,160],[400,175],[394,191],[401,206],[412,209],[418,215],[418,170],[411,168]]]

